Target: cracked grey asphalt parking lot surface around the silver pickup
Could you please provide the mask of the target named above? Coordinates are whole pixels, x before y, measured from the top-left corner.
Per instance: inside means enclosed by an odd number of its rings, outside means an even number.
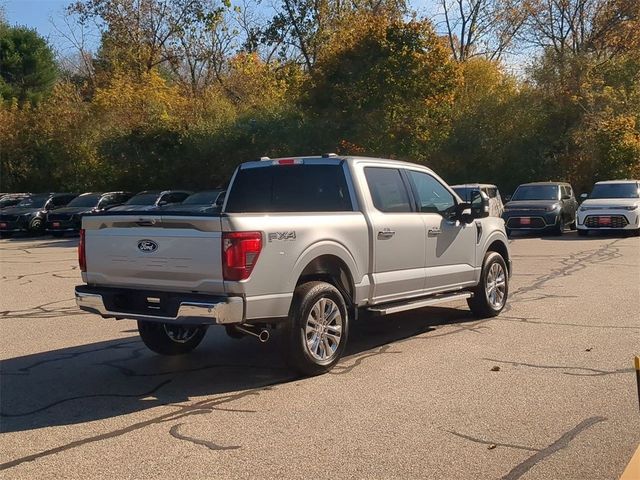
[[[0,477],[617,479],[640,443],[640,238],[517,237],[500,317],[356,325],[329,374],[212,328],[162,358],[76,309],[76,240],[0,240]]]

